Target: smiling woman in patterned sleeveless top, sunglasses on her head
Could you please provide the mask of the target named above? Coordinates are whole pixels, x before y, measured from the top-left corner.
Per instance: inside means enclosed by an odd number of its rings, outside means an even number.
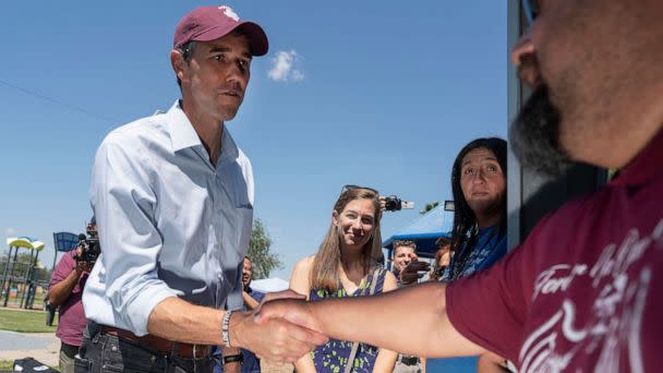
[[[379,262],[379,194],[370,188],[343,186],[332,224],[317,253],[297,263],[290,288],[316,302],[358,298],[397,288],[396,277]],[[385,324],[386,325],[386,324]],[[296,362],[297,372],[391,372],[397,353],[370,344],[329,339]]]

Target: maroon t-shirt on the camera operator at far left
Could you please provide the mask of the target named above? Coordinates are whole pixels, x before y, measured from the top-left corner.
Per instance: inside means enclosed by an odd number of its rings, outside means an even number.
[[[50,284],[48,285],[49,289],[53,285],[65,279],[67,276],[74,270],[74,267],[76,266],[76,261],[74,260],[75,254],[76,252],[73,250],[62,255],[50,278]],[[81,299],[83,298],[83,288],[85,287],[88,275],[88,273],[83,273],[81,275],[71,296],[69,296],[64,303],[60,304],[60,318],[58,321],[56,336],[68,345],[81,346],[81,341],[83,340],[83,330],[87,325],[87,320],[85,318],[85,311],[83,311],[83,302]]]

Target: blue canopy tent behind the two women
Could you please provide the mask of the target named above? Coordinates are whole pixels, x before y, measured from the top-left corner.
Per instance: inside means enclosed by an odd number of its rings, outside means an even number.
[[[410,240],[417,243],[417,255],[422,257],[435,257],[435,241],[443,237],[451,236],[454,226],[454,212],[445,210],[444,204],[431,209],[399,229],[394,236],[382,243],[387,249],[387,257],[394,255],[394,241]]]

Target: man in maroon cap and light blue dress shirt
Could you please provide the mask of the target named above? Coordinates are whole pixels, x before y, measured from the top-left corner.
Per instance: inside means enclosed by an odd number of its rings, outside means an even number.
[[[225,122],[242,104],[251,59],[267,49],[262,27],[229,7],[193,10],[170,52],[182,98],[99,146],[91,203],[103,253],[83,294],[91,333],[76,372],[206,372],[215,345],[225,371],[237,372],[240,348],[284,362],[326,340],[233,312],[242,308],[253,173]]]

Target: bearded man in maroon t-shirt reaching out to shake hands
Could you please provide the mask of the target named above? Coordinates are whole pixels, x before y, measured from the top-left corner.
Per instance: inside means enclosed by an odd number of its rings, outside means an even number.
[[[286,316],[429,357],[490,350],[520,372],[660,371],[663,2],[523,5],[532,24],[513,61],[534,94],[511,128],[522,164],[555,171],[574,159],[619,176],[547,215],[474,276],[381,297],[276,301],[258,322]],[[393,338],[384,325],[406,312],[417,322]]]

